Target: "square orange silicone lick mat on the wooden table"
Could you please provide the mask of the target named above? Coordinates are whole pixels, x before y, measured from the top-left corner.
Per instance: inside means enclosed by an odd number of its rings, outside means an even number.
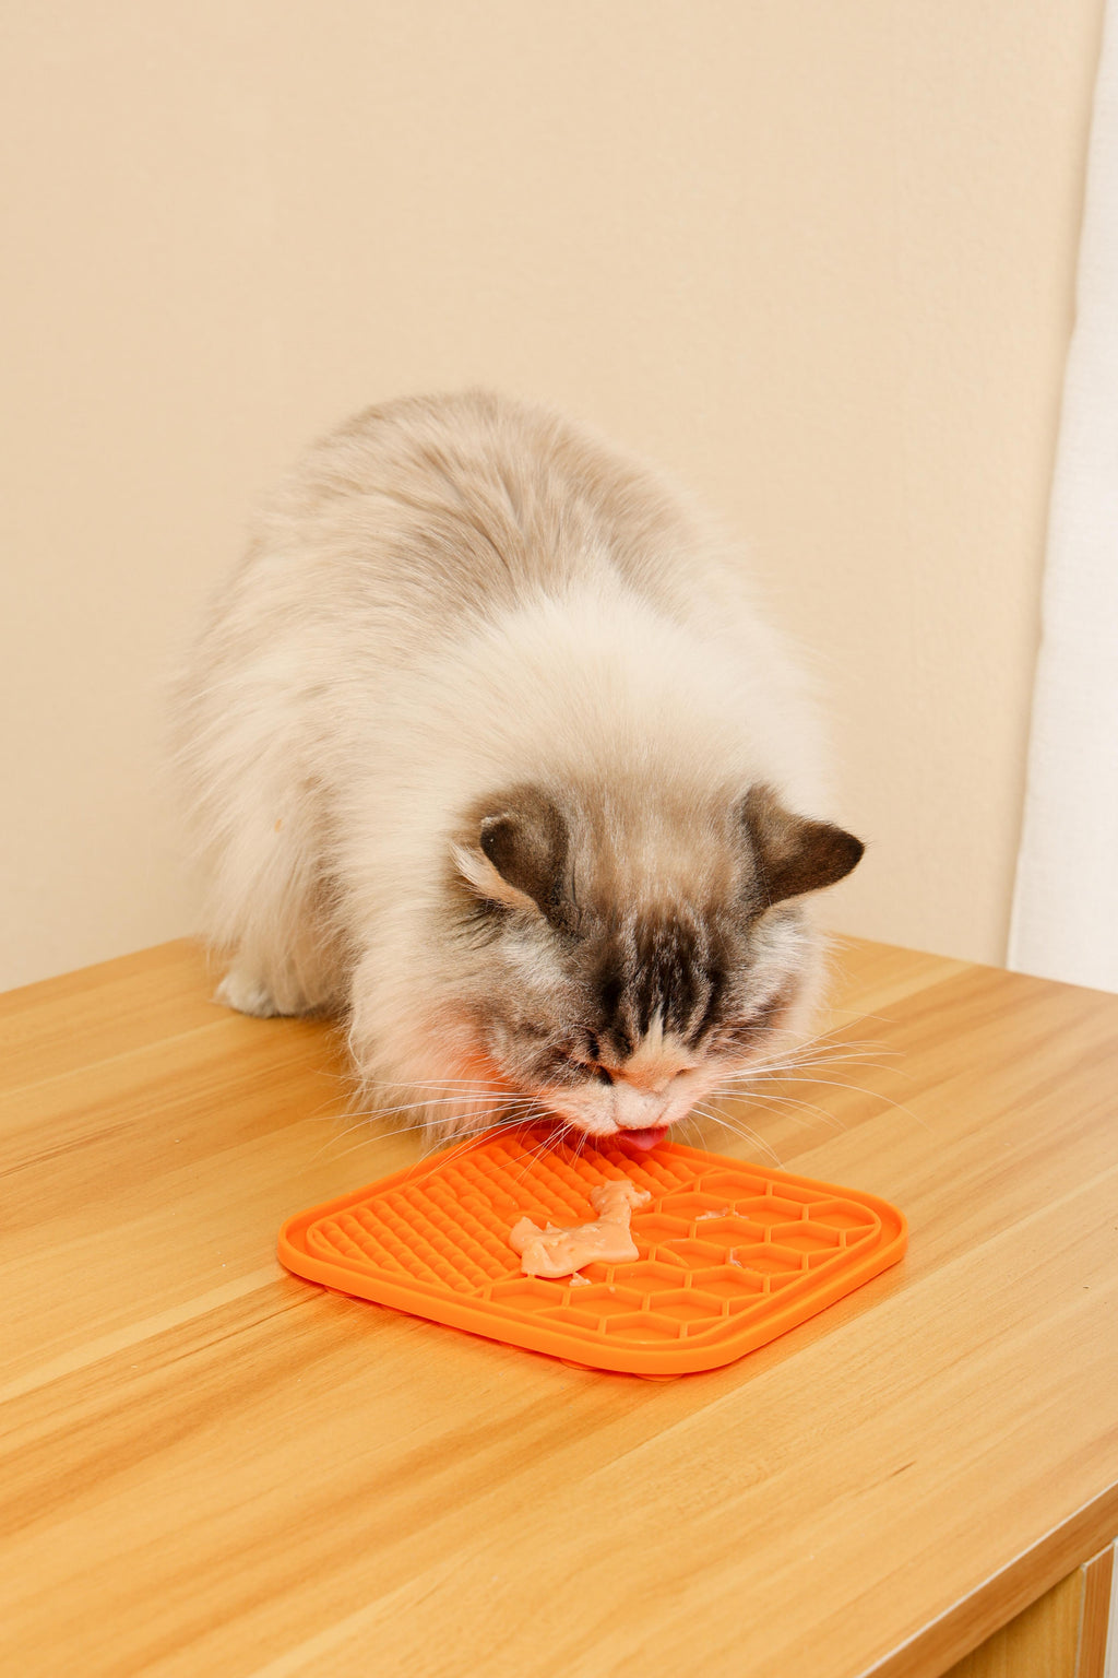
[[[640,1257],[526,1277],[518,1218],[593,1218],[590,1190],[627,1178]],[[634,1158],[510,1126],[288,1218],[280,1258],[312,1282],[493,1341],[630,1374],[716,1369],[897,1264],[895,1206],[853,1188],[677,1143]]]

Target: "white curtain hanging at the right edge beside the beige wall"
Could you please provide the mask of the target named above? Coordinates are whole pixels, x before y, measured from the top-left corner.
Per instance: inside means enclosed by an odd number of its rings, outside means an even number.
[[[1009,967],[1118,990],[1118,23],[1095,89]]]

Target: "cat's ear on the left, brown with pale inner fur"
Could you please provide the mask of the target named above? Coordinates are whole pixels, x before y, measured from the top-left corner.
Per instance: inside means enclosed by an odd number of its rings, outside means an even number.
[[[474,891],[510,908],[533,904],[553,926],[565,926],[567,822],[540,787],[516,787],[488,800],[454,862]]]

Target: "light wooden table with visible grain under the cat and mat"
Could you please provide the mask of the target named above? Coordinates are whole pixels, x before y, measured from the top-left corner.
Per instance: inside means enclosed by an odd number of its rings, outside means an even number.
[[[287,1275],[283,1217],[417,1143],[347,1131],[330,1029],[215,1007],[189,943],[2,998],[0,1670],[934,1675],[1043,1597],[964,1670],[1043,1623],[1064,1665],[1016,1670],[1101,1671],[1118,997],[838,963],[830,1060],[738,1116],[908,1257],[669,1383]]]

